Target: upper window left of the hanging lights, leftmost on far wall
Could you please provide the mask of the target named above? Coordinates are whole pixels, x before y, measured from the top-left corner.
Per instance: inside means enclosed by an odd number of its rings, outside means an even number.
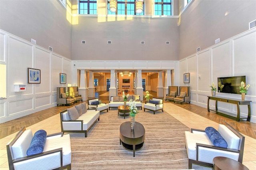
[[[79,14],[97,14],[97,0],[80,0]]]

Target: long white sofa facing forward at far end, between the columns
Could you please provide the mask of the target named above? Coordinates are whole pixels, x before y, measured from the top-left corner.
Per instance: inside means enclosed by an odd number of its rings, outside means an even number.
[[[118,98],[118,101],[115,101],[114,98]],[[136,107],[140,107],[142,109],[142,102],[140,101],[139,95],[130,95],[127,99],[126,105],[129,106],[130,99],[134,100],[136,103]],[[137,101],[136,101],[137,100]],[[118,107],[120,105],[124,105],[123,97],[122,96],[116,96],[116,97],[110,97],[110,101],[108,103],[109,109],[111,107]]]

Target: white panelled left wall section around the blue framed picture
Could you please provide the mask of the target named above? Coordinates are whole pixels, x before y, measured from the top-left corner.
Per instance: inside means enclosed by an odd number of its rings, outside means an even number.
[[[0,123],[56,106],[56,87],[71,82],[71,60],[0,30],[0,64],[6,65],[6,99],[0,99]],[[28,83],[28,68],[40,69],[40,84]],[[60,84],[60,73],[67,83]],[[14,84],[26,84],[15,92]]]

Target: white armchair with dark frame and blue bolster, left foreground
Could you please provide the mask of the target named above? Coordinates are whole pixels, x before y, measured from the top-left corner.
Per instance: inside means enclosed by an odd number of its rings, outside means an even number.
[[[40,131],[40,132],[39,132]],[[23,127],[6,145],[10,170],[71,169],[70,135]],[[43,132],[43,133],[42,133]]]

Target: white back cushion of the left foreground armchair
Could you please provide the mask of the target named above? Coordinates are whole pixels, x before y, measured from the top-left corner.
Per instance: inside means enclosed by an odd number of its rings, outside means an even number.
[[[33,138],[31,129],[25,130],[12,145],[14,159],[27,156],[27,150]]]

